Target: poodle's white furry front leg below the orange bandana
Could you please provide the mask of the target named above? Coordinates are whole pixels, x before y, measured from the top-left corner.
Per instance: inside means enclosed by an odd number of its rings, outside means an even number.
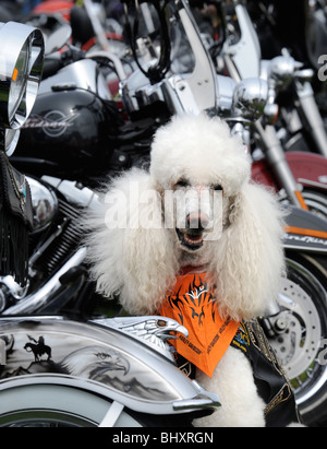
[[[219,395],[221,407],[195,420],[195,427],[265,427],[266,404],[257,393],[251,363],[241,351],[229,347],[213,379],[198,371],[196,380]]]

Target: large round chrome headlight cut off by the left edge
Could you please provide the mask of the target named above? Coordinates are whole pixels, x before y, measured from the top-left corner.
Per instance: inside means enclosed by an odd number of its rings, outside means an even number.
[[[0,125],[17,129],[34,106],[44,66],[39,29],[16,22],[0,23]]]

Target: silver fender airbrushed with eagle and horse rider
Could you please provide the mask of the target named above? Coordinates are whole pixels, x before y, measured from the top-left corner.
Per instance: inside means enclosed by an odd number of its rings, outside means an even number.
[[[218,397],[172,361],[133,333],[110,327],[110,320],[101,326],[60,317],[0,318],[0,390],[11,388],[11,380],[39,385],[51,378],[65,385],[73,379],[77,388],[87,386],[141,413],[172,415],[219,405]]]

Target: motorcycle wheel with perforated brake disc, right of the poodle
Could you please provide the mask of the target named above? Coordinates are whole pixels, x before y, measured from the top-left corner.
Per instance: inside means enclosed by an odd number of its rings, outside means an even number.
[[[295,391],[305,424],[327,420],[327,361],[319,356],[327,335],[326,267],[317,259],[287,259],[280,314],[269,318],[269,341]]]

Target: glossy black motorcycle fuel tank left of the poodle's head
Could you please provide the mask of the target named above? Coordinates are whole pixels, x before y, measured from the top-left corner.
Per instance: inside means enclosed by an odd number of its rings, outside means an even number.
[[[37,97],[14,156],[61,170],[100,166],[113,153],[120,125],[113,102],[74,85],[58,86]]]

